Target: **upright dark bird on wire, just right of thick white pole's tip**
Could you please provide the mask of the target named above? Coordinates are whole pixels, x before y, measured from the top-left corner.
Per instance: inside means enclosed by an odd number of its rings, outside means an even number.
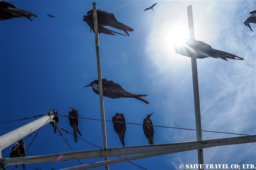
[[[70,123],[70,126],[73,128],[75,142],[77,143],[77,133],[76,132],[78,132],[79,135],[82,136],[78,129],[78,123],[79,123],[78,113],[77,113],[77,110],[75,110],[71,105],[70,105],[70,107],[72,108],[72,111],[69,112],[69,123]]]

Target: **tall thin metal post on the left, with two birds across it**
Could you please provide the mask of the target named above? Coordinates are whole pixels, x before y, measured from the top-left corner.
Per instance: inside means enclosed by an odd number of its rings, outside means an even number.
[[[94,33],[95,33],[95,44],[96,44],[96,56],[97,56],[97,68],[98,68],[98,80],[99,80],[99,98],[101,103],[101,123],[102,123],[102,134],[104,149],[107,149],[107,135],[105,126],[105,114],[104,114],[104,103],[103,103],[103,92],[102,92],[102,77],[101,77],[101,57],[99,53],[99,33],[98,33],[98,20],[97,20],[97,8],[96,3],[93,2],[93,20],[94,20]],[[105,161],[108,157],[105,157]],[[109,167],[106,165],[106,170]]]

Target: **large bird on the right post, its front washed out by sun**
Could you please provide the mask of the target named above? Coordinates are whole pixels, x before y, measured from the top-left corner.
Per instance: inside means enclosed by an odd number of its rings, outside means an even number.
[[[203,41],[197,41],[197,40],[191,40],[191,39],[185,40],[182,44],[175,44],[174,45],[175,53],[190,57],[190,51],[192,51],[192,48],[193,48],[192,47],[193,41],[195,41],[197,59],[212,57],[212,58],[221,58],[226,61],[227,59],[244,60],[243,58],[238,57],[234,54],[226,53],[220,50],[215,50],[209,44],[206,44]]]

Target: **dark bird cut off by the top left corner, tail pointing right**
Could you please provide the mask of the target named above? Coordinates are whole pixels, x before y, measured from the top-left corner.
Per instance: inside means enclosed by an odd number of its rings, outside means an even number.
[[[4,0],[0,1],[0,21],[10,20],[12,18],[22,18],[22,17],[26,17],[29,20],[31,20],[31,18],[29,17],[32,17],[32,16],[37,17],[37,15],[35,14],[16,8],[14,5],[12,5],[9,2],[6,2]]]

